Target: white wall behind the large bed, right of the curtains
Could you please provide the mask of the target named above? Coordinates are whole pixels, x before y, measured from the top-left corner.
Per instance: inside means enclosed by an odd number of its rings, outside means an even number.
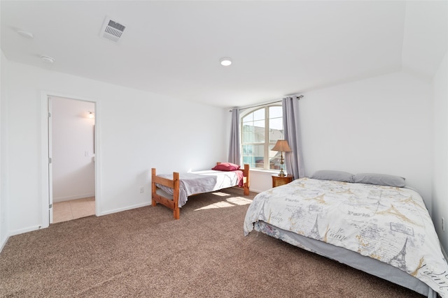
[[[304,94],[304,167],[405,177],[431,209],[430,84],[397,72]]]

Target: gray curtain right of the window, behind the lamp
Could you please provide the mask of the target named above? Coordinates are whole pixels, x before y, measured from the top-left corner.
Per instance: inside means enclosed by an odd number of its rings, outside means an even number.
[[[283,135],[292,150],[285,154],[286,172],[293,174],[294,179],[302,178],[305,172],[300,136],[299,98],[287,96],[281,103],[283,105]]]

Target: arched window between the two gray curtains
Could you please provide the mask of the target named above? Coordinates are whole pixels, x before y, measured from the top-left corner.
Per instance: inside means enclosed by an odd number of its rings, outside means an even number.
[[[241,115],[241,156],[251,168],[280,170],[280,152],[272,151],[283,140],[283,108],[265,105]]]

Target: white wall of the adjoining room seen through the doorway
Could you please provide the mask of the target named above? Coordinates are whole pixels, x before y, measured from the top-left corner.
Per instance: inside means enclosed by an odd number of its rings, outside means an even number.
[[[61,202],[95,195],[94,103],[52,97],[52,198]]]

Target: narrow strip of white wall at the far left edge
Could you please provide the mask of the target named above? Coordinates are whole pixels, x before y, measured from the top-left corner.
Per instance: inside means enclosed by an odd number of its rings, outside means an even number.
[[[0,57],[1,73],[0,73],[0,251],[8,240],[8,147],[7,141],[7,125],[8,122],[6,109],[7,109],[7,86],[6,75],[8,74],[8,61],[6,60],[3,51],[1,51]]]

